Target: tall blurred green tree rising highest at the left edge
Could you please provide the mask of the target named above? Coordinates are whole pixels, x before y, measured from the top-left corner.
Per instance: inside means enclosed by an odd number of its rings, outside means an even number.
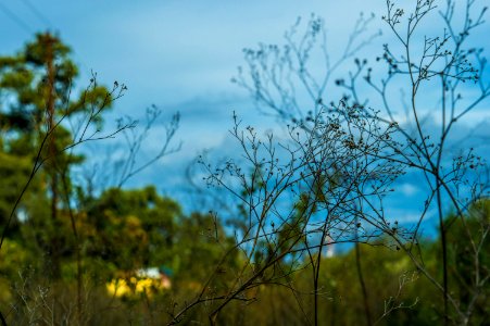
[[[88,125],[81,118],[87,117],[87,112],[90,122],[100,128],[102,120],[98,113],[112,100],[111,92],[97,86],[93,79],[91,87],[73,99],[72,87],[78,70],[70,53],[70,48],[58,37],[45,33],[36,35],[36,39],[16,55],[0,57],[0,151],[5,163],[25,162],[23,168],[11,174],[12,183],[17,186],[2,185],[0,206],[12,206],[13,199],[21,193],[22,181],[33,177],[32,173],[45,163],[40,176],[42,181],[34,191],[49,198],[50,211],[42,216],[27,212],[25,217],[39,218],[36,224],[45,226],[36,229],[45,235],[35,238],[49,239],[39,244],[49,256],[47,266],[53,278],[61,275],[60,258],[66,250],[66,243],[59,237],[62,222],[58,215],[63,205],[62,193],[66,191],[63,184],[70,187],[71,166],[83,161],[83,156],[65,149],[83,139]],[[34,168],[28,167],[28,162]],[[9,167],[4,166],[1,173],[8,171]],[[0,212],[4,235],[10,224],[8,211]]]

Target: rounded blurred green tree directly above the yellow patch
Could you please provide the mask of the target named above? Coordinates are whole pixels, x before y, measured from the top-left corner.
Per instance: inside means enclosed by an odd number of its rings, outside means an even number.
[[[134,272],[146,266],[168,265],[180,206],[160,196],[154,187],[109,189],[87,202],[88,256],[101,256],[116,269]]]

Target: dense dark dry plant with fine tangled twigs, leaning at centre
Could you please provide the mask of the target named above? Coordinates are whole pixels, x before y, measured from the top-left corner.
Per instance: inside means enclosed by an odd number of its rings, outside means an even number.
[[[350,109],[345,110],[349,111]],[[351,114],[352,117],[355,116],[353,112],[350,112],[349,114]],[[327,115],[323,117],[326,120]],[[354,120],[352,121],[353,126],[356,124],[362,124],[361,121]],[[351,139],[348,133],[341,133],[339,130],[340,125],[338,125],[336,118],[332,117],[331,122],[329,121],[328,123],[323,123],[322,121],[323,120],[318,116],[318,120],[316,120],[317,125],[313,126],[313,131],[302,131],[306,137],[306,141],[304,142],[300,139],[299,133],[296,133],[296,130],[305,130],[305,128],[303,128],[302,126],[298,126],[298,128],[291,128],[291,140],[297,149],[291,148],[290,146],[280,146],[280,148],[285,149],[291,158],[291,161],[281,165],[280,163],[278,163],[279,161],[275,160],[276,145],[273,145],[272,136],[267,138],[267,141],[262,142],[256,138],[256,134],[251,127],[247,128],[248,131],[246,136],[246,134],[239,130],[239,122],[235,118],[236,127],[233,130],[233,135],[242,146],[242,149],[246,153],[246,159],[249,160],[252,166],[254,166],[250,181],[244,177],[242,173],[240,173],[241,168],[239,168],[235,163],[229,162],[227,163],[226,168],[217,168],[217,173],[212,172],[211,168],[208,167],[209,165],[204,165],[211,174],[210,180],[217,183],[219,186],[234,193],[249,208],[248,221],[250,226],[243,231],[243,238],[241,241],[238,241],[236,248],[251,242],[250,248],[244,251],[248,259],[246,260],[246,263],[236,277],[235,284],[230,286],[228,293],[225,296],[226,299],[224,299],[223,302],[221,302],[217,308],[215,308],[214,311],[210,314],[211,323],[215,323],[218,313],[230,302],[230,300],[234,300],[246,290],[254,287],[255,281],[259,281],[260,284],[262,284],[262,281],[264,281],[264,284],[269,284],[271,280],[267,281],[259,279],[261,279],[267,271],[271,271],[269,268],[273,268],[272,271],[274,271],[275,265],[282,261],[285,256],[290,255],[293,252],[298,252],[298,249],[296,247],[304,242],[304,239],[306,237],[314,236],[316,229],[318,229],[323,235],[321,244],[307,244],[306,249],[299,250],[307,250],[310,252],[310,256],[312,258],[311,265],[313,266],[315,274],[314,279],[316,279],[313,296],[315,298],[318,296],[317,280],[319,276],[319,263],[318,261],[315,261],[316,259],[313,259],[311,250],[318,249],[318,253],[315,256],[319,259],[322,256],[322,248],[324,248],[325,246],[325,235],[327,234],[327,231],[331,231],[332,228],[330,227],[329,217],[322,222],[321,226],[318,228],[315,228],[315,230],[313,231],[309,230],[307,227],[312,227],[311,223],[313,222],[313,216],[315,216],[317,212],[325,211],[327,213],[327,216],[329,216],[329,214],[335,212],[336,210],[339,210],[339,214],[340,211],[345,210],[345,212],[354,214],[355,206],[352,205],[351,202],[353,200],[356,200],[357,198],[357,196],[355,196],[353,192],[356,190],[355,183],[360,180],[361,176],[363,176],[362,178],[370,178],[370,174],[375,174],[375,172],[372,171],[370,167],[372,162],[365,159],[362,150],[356,152],[357,147],[353,145],[354,139]],[[373,129],[373,133],[375,129]],[[379,138],[373,137],[373,135],[364,138],[368,143],[367,147],[375,146],[374,143],[380,145],[381,142],[379,142],[378,139],[382,137],[386,138],[386,135],[388,135],[388,133],[389,131],[387,131],[387,134],[381,133],[381,135],[377,136]],[[343,135],[348,136],[343,138]],[[330,140],[336,139],[335,137],[337,137],[338,139]],[[347,143],[348,146],[345,147]],[[264,158],[264,160],[261,160],[259,149],[264,149],[265,153],[267,153],[269,158]],[[356,160],[359,160],[359,163],[364,162],[362,163],[363,167],[360,167],[359,171],[354,171],[354,175],[352,175],[352,173],[349,173],[348,171],[341,173],[340,175],[349,177],[349,179],[345,179],[344,183],[340,183],[339,186],[332,187],[327,192],[323,192],[325,190],[322,189],[324,187],[327,187],[328,185],[328,171],[332,168],[332,162],[335,161],[335,156],[329,155],[334,153],[339,158],[339,160],[343,160],[343,166],[345,166],[347,168],[350,168],[350,164],[352,164],[352,168],[357,166],[357,163],[354,163],[356,162]],[[318,156],[315,158],[316,155]],[[315,166],[315,164],[318,164],[318,166]],[[378,166],[381,166],[379,167],[379,173],[384,173],[382,170],[386,168],[385,165],[380,164]],[[278,170],[278,174],[274,173],[274,171],[276,170]],[[229,171],[231,176],[236,176],[241,180],[241,184],[247,189],[246,192],[248,193],[249,198],[243,197],[227,184],[227,181],[223,178],[224,173],[227,171]],[[324,178],[325,180],[323,180]],[[387,180],[389,183],[389,179]],[[304,191],[303,193],[306,196],[303,197],[304,203],[306,205],[304,208],[304,211],[302,211],[303,213],[299,215],[298,218],[293,220],[293,223],[289,223],[288,221],[292,215],[286,214],[286,217],[280,217],[281,214],[276,211],[275,204],[284,193],[289,191],[289,189],[297,189],[300,184],[305,187],[305,189],[301,190],[301,192]],[[298,190],[300,190],[300,188],[298,188]],[[294,192],[298,190],[294,190]],[[384,190],[380,191],[382,192]],[[330,203],[325,200],[328,196],[331,196],[335,202],[331,203],[331,208],[323,208],[323,205],[330,205]],[[350,199],[351,196],[353,197],[353,199]],[[271,214],[279,214],[278,217],[285,221],[284,224],[281,224],[277,228],[277,230],[275,230],[274,228],[272,230],[265,229],[265,224],[267,223],[267,221],[271,221]],[[256,222],[252,223],[253,218],[256,218]],[[336,221],[332,226],[335,226],[337,223],[340,222]],[[353,224],[352,222],[348,221],[341,223],[347,223],[348,226]],[[289,233],[287,237],[278,238],[278,235],[280,235],[278,230],[282,229],[286,226],[290,227],[291,230],[294,230],[298,227],[299,229],[298,231]],[[350,231],[341,228],[339,230],[339,237],[348,235]],[[255,254],[256,250],[259,250],[259,243],[261,243],[262,241],[265,241],[267,248],[269,248],[272,252],[267,254],[265,260],[254,262],[253,255]],[[351,238],[350,241],[354,241],[354,238]],[[249,269],[249,266],[252,267],[251,275],[248,275],[246,273]],[[201,298],[204,294],[208,284],[209,281],[205,284],[200,296],[194,301],[194,303],[191,304],[191,306],[202,300]],[[187,309],[189,308],[185,308],[184,311],[175,315],[173,321],[175,322],[176,319],[178,319]],[[316,316],[317,312],[318,309],[316,308]],[[316,323],[318,323],[317,317],[315,319]]]

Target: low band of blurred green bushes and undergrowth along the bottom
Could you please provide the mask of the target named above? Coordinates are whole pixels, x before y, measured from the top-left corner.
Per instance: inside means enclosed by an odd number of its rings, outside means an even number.
[[[234,247],[234,238],[210,214],[185,216],[175,201],[159,196],[154,188],[137,190],[110,189],[98,198],[87,200],[85,211],[78,211],[77,237],[79,256],[68,213],[59,210],[60,223],[50,224],[49,211],[42,202],[32,200],[23,220],[16,221],[2,248],[1,302],[9,325],[56,325],[59,323],[87,325],[161,325],[206,286],[219,292],[236,281],[235,277],[247,259]],[[46,205],[45,205],[46,206]],[[480,203],[478,210],[490,220],[490,204]],[[45,215],[43,215],[45,212]],[[455,226],[450,234],[450,289],[461,304],[469,304],[467,283],[468,243],[461,243],[463,228]],[[215,234],[218,234],[216,238]],[[58,266],[48,251],[50,239],[56,239],[60,250]],[[287,276],[286,283],[274,281],[263,275],[255,287],[248,289],[243,300],[230,303],[218,315],[221,325],[305,325],[313,318],[313,298],[319,298],[322,325],[363,325],[366,323],[363,292],[359,279],[353,247],[332,256],[322,258],[323,268],[317,293],[312,292],[309,260],[299,261],[301,268]],[[419,246],[426,254],[426,267],[438,274],[441,264],[438,239]],[[234,250],[235,248],[235,250]],[[225,253],[227,262],[219,262]],[[489,252],[483,248],[482,252]],[[340,251],[340,252],[339,252]],[[490,263],[488,254],[481,264]],[[77,272],[77,264],[80,271]],[[289,268],[285,262],[284,268]],[[209,277],[221,271],[210,283]],[[145,289],[131,284],[148,276],[138,269],[158,267],[169,279],[162,287],[161,279]],[[53,269],[60,273],[54,276]],[[280,268],[280,266],[277,266]],[[361,246],[361,268],[367,288],[372,323],[379,325],[434,325],[443,313],[440,294],[411,263],[403,252],[379,239]],[[81,272],[81,275],[77,273]],[[81,285],[77,285],[81,277]],[[154,277],[154,276],[152,276]],[[109,287],[118,281],[120,292],[127,281],[130,290],[117,293]],[[208,283],[208,284],[206,284]],[[290,285],[290,287],[285,286]],[[116,287],[117,288],[117,287]],[[80,292],[78,292],[80,291]],[[490,296],[481,289],[475,304],[472,325],[487,325]],[[81,296],[78,303],[77,298]],[[181,317],[183,324],[205,321],[209,309],[217,299],[197,305]],[[77,316],[77,304],[80,304]]]

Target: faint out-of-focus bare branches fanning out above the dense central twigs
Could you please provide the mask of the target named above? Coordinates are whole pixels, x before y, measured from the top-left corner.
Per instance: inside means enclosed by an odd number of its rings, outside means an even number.
[[[312,114],[316,116],[323,108],[325,92],[334,74],[349,59],[380,36],[380,33],[366,36],[373,20],[373,15],[359,17],[342,54],[332,62],[327,50],[325,22],[312,15],[306,30],[301,35],[299,18],[285,34],[286,42],[282,48],[261,43],[259,50],[244,49],[250,76],[246,76],[243,70],[239,67],[238,76],[233,78],[233,82],[250,92],[263,113],[273,113],[288,123],[306,117],[303,105],[296,98],[299,92],[305,92],[313,103]],[[309,70],[315,50],[325,66],[325,75],[321,80],[315,80]],[[256,82],[260,84],[255,84]],[[262,110],[262,106],[272,109],[272,112]]]

